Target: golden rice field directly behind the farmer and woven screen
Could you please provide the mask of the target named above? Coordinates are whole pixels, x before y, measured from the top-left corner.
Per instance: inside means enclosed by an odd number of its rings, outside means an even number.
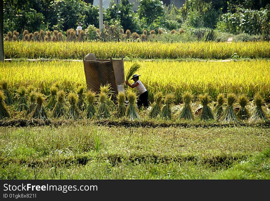
[[[125,72],[134,61],[125,61]],[[270,97],[270,61],[140,61],[141,81],[149,91],[149,100],[157,91],[164,94],[173,92],[175,103],[182,102],[181,93],[189,91],[195,95],[208,92],[213,99],[219,93],[246,94],[253,98],[260,92],[265,101]],[[32,62],[16,61],[0,64],[0,81],[6,79],[13,91],[19,85],[33,85],[40,88],[45,95],[49,87],[58,82],[65,91],[75,89],[77,83],[86,86],[83,62],[50,61]]]

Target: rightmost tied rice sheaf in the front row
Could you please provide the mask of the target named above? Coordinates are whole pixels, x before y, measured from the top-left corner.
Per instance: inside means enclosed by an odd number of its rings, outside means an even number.
[[[249,123],[265,122],[267,120],[267,118],[266,118],[266,115],[265,115],[264,110],[262,108],[264,100],[259,93],[256,93],[254,95],[254,102],[255,102],[256,108],[249,119]]]

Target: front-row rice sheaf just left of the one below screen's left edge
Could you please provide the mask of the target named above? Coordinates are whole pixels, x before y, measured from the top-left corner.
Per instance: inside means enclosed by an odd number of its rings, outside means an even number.
[[[67,96],[67,100],[69,102],[67,119],[77,120],[78,118],[80,118],[80,112],[78,108],[78,96],[71,91]]]

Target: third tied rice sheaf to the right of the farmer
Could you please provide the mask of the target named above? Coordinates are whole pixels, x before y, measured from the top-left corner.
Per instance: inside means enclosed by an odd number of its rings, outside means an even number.
[[[193,99],[193,95],[190,92],[184,92],[182,94],[182,98],[184,101],[184,106],[183,109],[180,112],[179,118],[180,119],[188,119],[188,120],[193,120],[195,119],[194,114],[192,113],[190,103]]]

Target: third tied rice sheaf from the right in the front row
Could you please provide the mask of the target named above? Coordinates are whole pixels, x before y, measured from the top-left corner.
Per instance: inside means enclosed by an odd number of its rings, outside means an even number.
[[[227,106],[225,112],[223,114],[222,121],[223,122],[238,122],[234,110],[233,110],[233,103],[237,100],[236,95],[234,93],[230,93],[227,95]]]

